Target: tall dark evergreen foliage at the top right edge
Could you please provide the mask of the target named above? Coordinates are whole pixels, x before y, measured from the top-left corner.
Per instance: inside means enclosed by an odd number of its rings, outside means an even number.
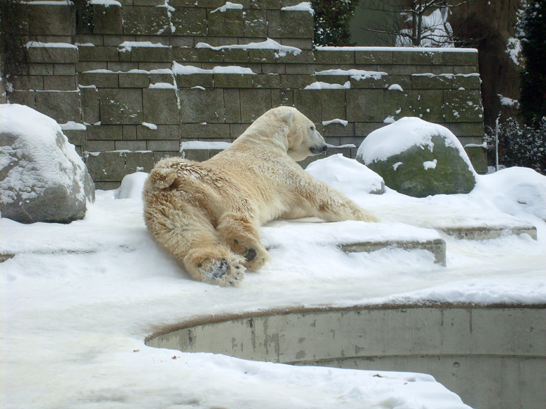
[[[546,0],[528,1],[519,29],[526,59],[521,71],[521,115],[526,124],[537,126],[546,117]]]

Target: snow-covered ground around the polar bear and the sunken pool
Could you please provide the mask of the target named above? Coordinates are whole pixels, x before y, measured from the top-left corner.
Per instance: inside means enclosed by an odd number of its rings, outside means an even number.
[[[523,168],[478,177],[466,195],[367,193],[367,168],[340,156],[312,173],[381,224],[309,220],[262,228],[272,262],[239,287],[191,280],[148,235],[145,174],[99,191],[84,220],[0,220],[2,408],[468,408],[429,375],[292,367],[144,345],[190,317],[281,306],[546,303],[546,178]],[[125,199],[116,199],[123,197]],[[426,238],[430,227],[533,224],[527,235],[447,242],[447,266],[424,250],[344,254],[370,236]],[[413,227],[419,227],[414,229]],[[422,235],[422,236],[421,236]],[[317,240],[327,236],[328,240]],[[176,359],[173,359],[176,357]]]

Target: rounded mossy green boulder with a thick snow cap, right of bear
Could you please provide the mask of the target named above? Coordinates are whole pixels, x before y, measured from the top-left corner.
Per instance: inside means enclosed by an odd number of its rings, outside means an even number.
[[[474,168],[456,136],[416,117],[373,131],[358,148],[356,160],[408,196],[468,193],[476,184]]]

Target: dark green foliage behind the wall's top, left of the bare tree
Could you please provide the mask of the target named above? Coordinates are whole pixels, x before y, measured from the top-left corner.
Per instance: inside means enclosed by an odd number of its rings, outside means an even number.
[[[349,20],[358,0],[311,0],[315,11],[315,45],[352,45]]]

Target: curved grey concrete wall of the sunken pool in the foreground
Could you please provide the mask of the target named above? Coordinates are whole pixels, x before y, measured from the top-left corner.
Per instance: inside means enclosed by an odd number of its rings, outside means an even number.
[[[473,408],[546,408],[545,306],[272,311],[187,322],[147,344],[286,364],[430,373]]]

